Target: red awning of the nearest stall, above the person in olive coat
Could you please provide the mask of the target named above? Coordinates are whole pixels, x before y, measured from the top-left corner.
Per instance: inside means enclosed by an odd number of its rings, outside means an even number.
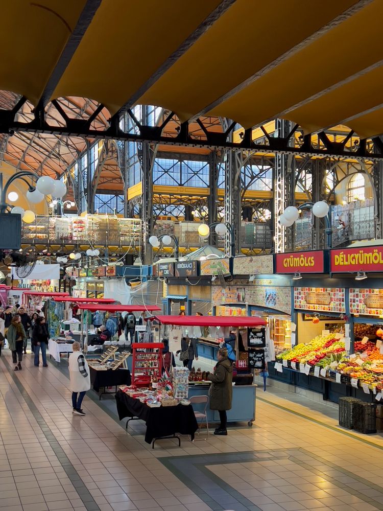
[[[182,327],[259,327],[266,321],[257,316],[155,316],[162,324]]]

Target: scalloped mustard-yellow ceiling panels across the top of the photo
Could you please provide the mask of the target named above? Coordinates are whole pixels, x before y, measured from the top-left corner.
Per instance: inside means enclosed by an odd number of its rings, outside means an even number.
[[[0,89],[36,105],[87,5],[5,2]],[[370,137],[383,133],[382,19],[383,0],[101,0],[52,98]]]

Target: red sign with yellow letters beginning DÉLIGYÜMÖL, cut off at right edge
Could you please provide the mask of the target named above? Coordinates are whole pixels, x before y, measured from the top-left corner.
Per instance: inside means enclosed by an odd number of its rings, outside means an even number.
[[[383,247],[357,247],[330,250],[331,273],[349,271],[383,272]]]

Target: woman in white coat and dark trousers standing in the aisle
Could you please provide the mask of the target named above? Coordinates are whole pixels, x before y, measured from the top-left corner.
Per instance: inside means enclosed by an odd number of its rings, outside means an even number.
[[[81,408],[85,392],[90,389],[89,366],[80,351],[80,343],[74,342],[73,353],[69,355],[70,390],[72,391],[72,405],[75,415],[85,415]]]

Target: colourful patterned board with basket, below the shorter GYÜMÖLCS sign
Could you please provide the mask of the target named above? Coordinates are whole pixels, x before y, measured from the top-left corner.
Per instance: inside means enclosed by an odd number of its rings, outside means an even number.
[[[294,307],[304,311],[346,312],[344,288],[294,288]]]

